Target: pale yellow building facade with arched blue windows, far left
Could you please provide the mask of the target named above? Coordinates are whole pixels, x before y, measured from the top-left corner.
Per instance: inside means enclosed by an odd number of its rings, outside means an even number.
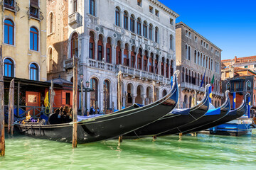
[[[46,3],[1,1],[4,76],[46,81]]]

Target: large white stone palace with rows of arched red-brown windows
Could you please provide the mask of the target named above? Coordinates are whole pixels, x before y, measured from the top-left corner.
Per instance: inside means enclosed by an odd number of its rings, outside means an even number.
[[[78,72],[83,75],[80,79],[89,81],[95,89],[87,96],[88,108],[95,103],[100,111],[117,108],[119,71],[122,71],[123,106],[152,102],[153,81],[156,82],[156,98],[170,90],[171,75],[176,70],[177,13],[157,0],[69,0],[65,3],[60,0],[48,2],[48,17],[50,13],[55,16],[53,21],[48,19],[48,24],[54,26],[55,22],[53,31],[61,30],[64,36],[65,30],[68,31],[67,40],[51,42],[48,47],[53,49],[54,61],[63,62],[62,67],[56,67],[55,77],[65,72],[65,78],[72,81],[73,56],[79,58]],[[64,7],[63,11],[68,8],[67,26],[64,14],[50,11],[59,6]],[[56,41],[56,38],[51,40]],[[58,53],[54,52],[57,44],[67,45],[61,51],[63,56],[54,55]],[[48,63],[52,66],[53,60]]]

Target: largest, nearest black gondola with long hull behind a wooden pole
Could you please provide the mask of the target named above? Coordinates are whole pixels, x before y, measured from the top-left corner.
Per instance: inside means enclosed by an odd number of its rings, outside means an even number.
[[[118,111],[78,122],[78,143],[96,142],[124,135],[142,128],[172,111],[178,102],[178,72],[174,74],[174,86],[169,94],[147,106],[129,111]],[[54,125],[15,124],[23,135],[60,142],[72,142],[73,122]]]

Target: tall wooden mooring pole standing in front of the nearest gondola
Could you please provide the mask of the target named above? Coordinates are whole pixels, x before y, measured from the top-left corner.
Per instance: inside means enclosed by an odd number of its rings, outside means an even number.
[[[78,59],[73,56],[73,147],[78,147]]]

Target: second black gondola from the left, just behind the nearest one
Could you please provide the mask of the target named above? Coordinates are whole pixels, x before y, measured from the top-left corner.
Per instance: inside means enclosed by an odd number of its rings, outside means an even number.
[[[186,123],[191,123],[198,118],[201,118],[208,111],[209,107],[209,93],[208,88],[210,85],[206,86],[205,95],[201,103],[194,106],[193,108],[186,109],[174,109],[172,113],[165,115],[163,118],[156,120],[154,123],[129,132],[125,135],[125,138],[137,138],[146,136],[155,136],[163,132],[168,132],[174,128],[178,128]]]

